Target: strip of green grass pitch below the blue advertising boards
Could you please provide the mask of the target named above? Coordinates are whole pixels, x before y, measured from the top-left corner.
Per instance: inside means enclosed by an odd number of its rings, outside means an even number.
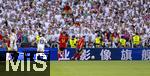
[[[150,61],[51,61],[50,76],[150,76]]]

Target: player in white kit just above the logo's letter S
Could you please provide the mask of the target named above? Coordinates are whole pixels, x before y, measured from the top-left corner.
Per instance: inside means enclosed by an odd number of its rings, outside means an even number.
[[[38,59],[38,56],[43,56],[43,59],[46,59],[47,57],[44,54],[45,44],[47,44],[46,39],[44,38],[44,34],[41,34],[39,37],[39,41],[37,43],[37,52],[36,53],[36,60]]]

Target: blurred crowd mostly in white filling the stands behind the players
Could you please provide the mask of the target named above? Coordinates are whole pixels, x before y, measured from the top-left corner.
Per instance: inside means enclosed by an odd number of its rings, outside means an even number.
[[[0,0],[0,43],[9,40],[15,28],[18,46],[34,46],[44,33],[49,43],[57,44],[60,32],[69,38],[85,37],[85,47],[150,47],[149,0]],[[99,37],[99,38],[98,38]],[[98,41],[99,39],[99,41]],[[68,40],[69,45],[69,40]],[[31,46],[30,46],[31,47]]]

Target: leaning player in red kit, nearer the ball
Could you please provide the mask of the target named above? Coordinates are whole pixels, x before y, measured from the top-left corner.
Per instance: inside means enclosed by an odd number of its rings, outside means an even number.
[[[83,48],[85,45],[85,40],[84,40],[85,36],[80,37],[79,40],[77,41],[77,49],[76,49],[76,53],[73,56],[73,60],[80,60],[80,56],[83,53]]]

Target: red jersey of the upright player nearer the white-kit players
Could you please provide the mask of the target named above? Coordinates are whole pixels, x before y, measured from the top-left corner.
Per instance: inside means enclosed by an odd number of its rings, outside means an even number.
[[[60,34],[59,47],[60,48],[66,48],[67,47],[67,41],[68,41],[68,37],[64,36],[63,34]]]

